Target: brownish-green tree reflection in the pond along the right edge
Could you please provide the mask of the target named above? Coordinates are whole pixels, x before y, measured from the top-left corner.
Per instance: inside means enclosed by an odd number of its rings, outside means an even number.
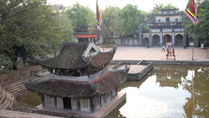
[[[199,71],[201,70],[201,71]],[[184,80],[184,89],[188,90],[194,96],[194,110],[197,117],[209,116],[209,101],[208,101],[208,79],[209,69],[201,67],[194,69],[194,77],[192,80]],[[193,97],[192,96],[192,97]]]

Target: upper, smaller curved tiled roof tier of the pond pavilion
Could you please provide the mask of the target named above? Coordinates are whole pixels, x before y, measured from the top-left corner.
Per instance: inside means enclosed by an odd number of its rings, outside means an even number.
[[[46,68],[54,69],[79,69],[79,68],[98,68],[108,65],[112,60],[116,48],[109,52],[100,52],[89,60],[83,60],[82,54],[87,49],[88,43],[66,43],[62,45],[59,54],[53,58],[39,60],[39,63]],[[89,64],[91,64],[89,66]]]

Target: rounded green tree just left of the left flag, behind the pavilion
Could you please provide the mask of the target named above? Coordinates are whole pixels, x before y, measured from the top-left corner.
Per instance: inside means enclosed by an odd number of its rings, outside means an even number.
[[[89,27],[89,32],[96,31],[95,13],[90,8],[77,3],[68,8],[66,14],[72,21],[75,32],[82,31],[84,26]]]

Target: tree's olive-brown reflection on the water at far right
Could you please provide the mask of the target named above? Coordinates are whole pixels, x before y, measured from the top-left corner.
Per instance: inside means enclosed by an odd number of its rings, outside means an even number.
[[[185,80],[183,85],[191,93],[185,104],[188,118],[193,116],[209,117],[209,67],[200,67],[193,70],[193,80]]]

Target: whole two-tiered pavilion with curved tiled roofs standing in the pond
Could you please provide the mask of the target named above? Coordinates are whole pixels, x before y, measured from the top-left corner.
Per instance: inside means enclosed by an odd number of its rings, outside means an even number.
[[[125,98],[117,88],[126,81],[129,67],[108,67],[115,52],[116,46],[101,52],[93,41],[65,43],[55,57],[39,60],[50,74],[42,80],[25,82],[41,98],[38,111],[64,117],[103,117],[96,113],[104,111],[101,109],[105,106],[116,107]]]

